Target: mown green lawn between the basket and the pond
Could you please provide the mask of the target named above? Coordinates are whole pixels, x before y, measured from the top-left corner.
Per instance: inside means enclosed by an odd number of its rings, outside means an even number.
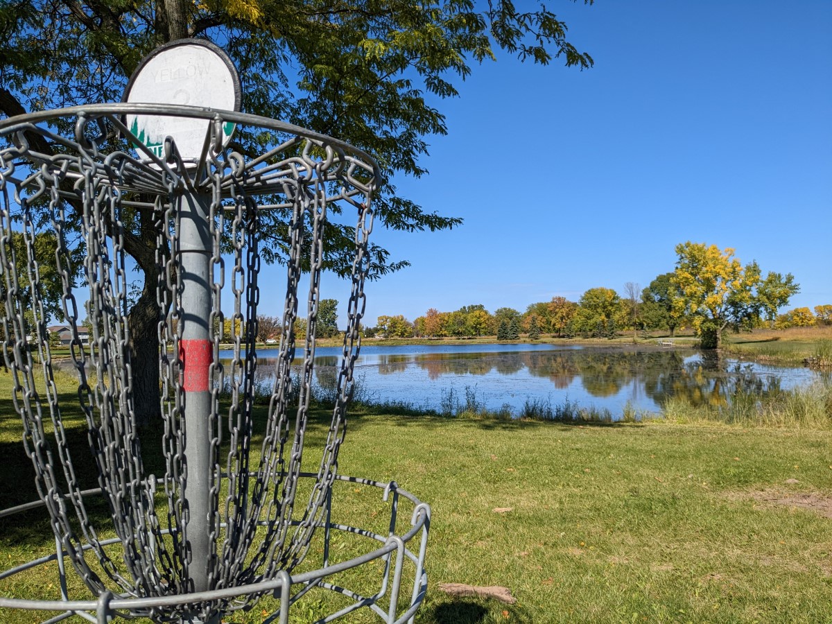
[[[66,380],[62,389],[73,398]],[[820,513],[832,500],[828,429],[378,412],[351,414],[339,471],[395,479],[431,504],[430,587],[417,622],[832,622],[832,520]],[[319,410],[310,423],[310,459],[327,421]],[[36,498],[18,432],[11,400],[0,399],[0,508]],[[336,518],[383,526],[386,508],[369,489],[339,490]],[[798,506],[806,501],[820,511]],[[3,568],[49,550],[37,518],[0,528]],[[359,552],[349,539],[334,543],[336,557]],[[0,593],[57,597],[54,564],[22,576],[0,582]],[[518,602],[447,597],[442,582],[502,585]],[[77,582],[72,590],[82,592]],[[270,604],[227,621],[257,622]],[[319,591],[303,604],[293,622],[335,602]],[[30,621],[0,610],[0,622]],[[379,622],[366,613],[344,621]]]

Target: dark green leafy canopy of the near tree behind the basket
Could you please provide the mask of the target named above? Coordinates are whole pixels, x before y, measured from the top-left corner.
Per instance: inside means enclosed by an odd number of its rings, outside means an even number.
[[[592,3],[592,0],[585,0]],[[461,223],[399,196],[395,173],[422,176],[426,137],[446,132],[434,102],[458,95],[473,62],[503,49],[521,60],[591,67],[542,3],[510,0],[27,0],[0,4],[0,113],[121,99],[154,47],[202,37],[240,70],[243,110],[337,136],[372,154],[385,182],[374,205],[394,230]],[[238,146],[257,151],[255,143]],[[279,221],[270,235],[280,260]],[[267,233],[268,234],[268,233]],[[349,270],[348,228],[327,232],[326,265]],[[140,255],[131,250],[131,255]],[[407,265],[375,246],[373,275]]]

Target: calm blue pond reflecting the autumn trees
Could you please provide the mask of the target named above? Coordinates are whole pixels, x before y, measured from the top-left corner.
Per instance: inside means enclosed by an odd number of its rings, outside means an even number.
[[[340,353],[334,347],[316,349],[320,388],[334,386]],[[262,349],[257,355],[258,380],[268,383],[277,351]],[[695,349],[622,345],[367,345],[355,363],[359,397],[374,403],[448,411],[454,402],[473,399],[489,410],[519,414],[529,403],[554,407],[568,401],[609,410],[613,418],[627,406],[658,412],[671,397],[724,404],[738,387],[765,393],[817,378],[802,367],[740,362]]]

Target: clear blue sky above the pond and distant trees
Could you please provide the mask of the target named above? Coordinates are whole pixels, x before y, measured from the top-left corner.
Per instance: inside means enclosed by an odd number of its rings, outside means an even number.
[[[437,102],[448,136],[430,138],[430,174],[395,183],[465,222],[374,231],[412,266],[368,286],[365,324],[643,288],[686,240],[793,273],[790,307],[832,303],[832,2],[547,6],[595,67],[503,56]],[[342,326],[348,294],[324,280]]]

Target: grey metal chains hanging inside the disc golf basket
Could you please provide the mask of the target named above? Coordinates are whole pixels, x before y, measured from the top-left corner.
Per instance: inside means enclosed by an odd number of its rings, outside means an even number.
[[[191,567],[202,562],[192,561],[191,518],[186,504],[188,438],[180,349],[186,285],[182,277],[181,215],[177,206],[183,193],[196,190],[210,198],[210,249],[206,251],[210,254],[208,323],[212,358],[210,414],[206,418],[211,472],[207,537],[212,552],[207,562],[208,587],[239,587],[273,579],[304,561],[315,530],[325,522],[346,431],[346,409],[354,389],[354,363],[361,344],[359,325],[364,314],[364,282],[369,273],[369,199],[374,189],[374,168],[343,147],[319,138],[293,136],[278,139],[273,149],[255,159],[246,160],[240,154],[225,151],[210,154],[194,174],[172,144],[166,143],[167,161],[154,166],[121,151],[107,152],[100,133],[88,131],[91,124],[102,123],[127,133],[116,115],[82,113],[76,122],[76,142],[24,124],[14,130],[14,145],[0,149],[0,286],[5,302],[2,330],[14,383],[12,401],[22,418],[23,443],[35,468],[38,493],[47,505],[52,530],[72,566],[96,596],[117,592],[149,597],[193,591]],[[219,123],[211,123],[209,131],[217,132],[219,128]],[[24,134],[32,131],[60,144],[73,156],[32,153]],[[24,161],[35,164],[21,164]],[[138,192],[150,194],[152,201],[137,200]],[[324,228],[329,219],[327,206],[333,201],[354,206],[357,211],[355,255],[336,403],[318,478],[303,504],[297,498],[314,380]],[[256,340],[263,227],[260,211],[265,209],[283,210],[287,216],[288,254],[274,384],[263,431],[255,432],[253,401],[258,373]],[[55,364],[47,339],[45,285],[39,264],[44,260],[36,253],[38,237],[43,233],[37,225],[37,215],[42,210],[48,215],[48,227],[57,235],[54,261],[61,281],[62,311],[71,325],[72,369],[78,377],[78,399],[87,419],[98,484],[110,506],[111,526],[120,540],[120,557],[112,557],[112,551],[102,546],[97,527],[87,513],[81,496],[82,483],[72,461],[79,449],[71,448],[64,428],[60,404],[65,399],[57,391]],[[82,224],[86,251],[82,267],[90,324],[90,338],[86,341],[77,329],[79,306],[68,239],[72,220],[68,211],[72,210]],[[125,221],[129,210],[148,211],[156,226],[156,274],[151,275],[151,282],[156,284],[156,306],[161,313],[156,339],[165,470],[159,478],[148,474],[142,463],[134,414],[134,363],[126,295]],[[18,236],[25,250],[23,256],[19,256],[15,245]],[[230,249],[233,258],[227,288],[224,249]],[[307,331],[303,360],[297,369],[299,391],[293,396],[295,321],[305,266],[310,279],[305,297]],[[222,311],[224,293],[230,294],[233,301],[227,335]],[[34,319],[33,323],[27,318]],[[30,329],[37,337],[35,352],[42,379],[27,344]],[[229,339],[232,356],[224,364],[220,344]],[[42,394],[38,392],[40,387]],[[223,394],[225,389],[227,397]],[[298,405],[293,413],[294,399]],[[221,409],[226,401],[224,427]],[[46,423],[51,423],[52,441],[46,433]],[[224,429],[229,450],[220,462]],[[259,456],[253,448],[255,434],[262,435]],[[163,495],[157,502],[160,484]],[[102,575],[85,560],[85,547],[92,548]],[[175,622],[195,615],[209,619],[217,612],[250,607],[257,597],[249,594],[234,601],[209,600],[164,610],[153,607],[131,615],[151,617],[155,622]]]

